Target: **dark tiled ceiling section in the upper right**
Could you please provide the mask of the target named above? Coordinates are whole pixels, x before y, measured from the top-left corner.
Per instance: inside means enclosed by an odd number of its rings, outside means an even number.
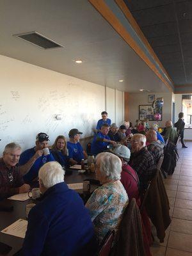
[[[192,84],[192,1],[124,2],[173,83]]]

